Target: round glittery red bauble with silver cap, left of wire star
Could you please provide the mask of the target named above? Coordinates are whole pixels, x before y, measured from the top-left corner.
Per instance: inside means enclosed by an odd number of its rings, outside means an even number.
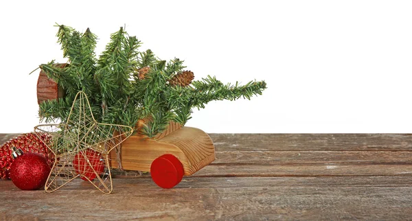
[[[45,185],[50,170],[44,156],[29,152],[14,159],[10,166],[10,178],[19,189],[36,190]]]

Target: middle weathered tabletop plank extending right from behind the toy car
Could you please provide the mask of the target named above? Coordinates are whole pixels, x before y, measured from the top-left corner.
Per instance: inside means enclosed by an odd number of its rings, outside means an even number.
[[[216,161],[192,176],[405,176],[412,174],[412,152],[233,151],[216,152]],[[141,176],[113,170],[115,177]],[[150,176],[146,174],[146,176]]]

